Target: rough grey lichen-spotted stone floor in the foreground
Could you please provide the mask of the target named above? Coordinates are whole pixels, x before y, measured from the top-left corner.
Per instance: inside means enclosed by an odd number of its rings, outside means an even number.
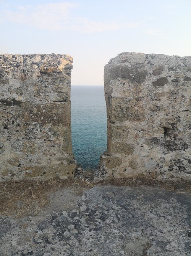
[[[1,256],[191,255],[191,197],[161,188],[63,189],[37,216],[0,217]]]

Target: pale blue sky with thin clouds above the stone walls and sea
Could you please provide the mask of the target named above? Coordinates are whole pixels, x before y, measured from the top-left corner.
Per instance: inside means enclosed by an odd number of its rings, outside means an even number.
[[[191,55],[191,0],[0,0],[0,53],[73,56],[71,84],[103,85],[121,52]]]

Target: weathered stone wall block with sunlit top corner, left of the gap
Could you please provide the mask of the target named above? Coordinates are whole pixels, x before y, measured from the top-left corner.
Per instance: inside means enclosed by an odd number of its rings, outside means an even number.
[[[0,179],[73,176],[69,55],[0,55]]]

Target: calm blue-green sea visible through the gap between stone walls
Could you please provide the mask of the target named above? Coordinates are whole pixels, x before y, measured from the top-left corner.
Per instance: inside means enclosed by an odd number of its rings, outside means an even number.
[[[104,86],[71,86],[72,147],[77,164],[96,168],[107,149]]]

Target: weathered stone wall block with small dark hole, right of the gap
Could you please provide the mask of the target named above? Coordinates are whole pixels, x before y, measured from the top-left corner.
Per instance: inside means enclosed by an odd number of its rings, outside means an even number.
[[[108,117],[102,177],[191,179],[191,57],[121,53],[105,66]]]

